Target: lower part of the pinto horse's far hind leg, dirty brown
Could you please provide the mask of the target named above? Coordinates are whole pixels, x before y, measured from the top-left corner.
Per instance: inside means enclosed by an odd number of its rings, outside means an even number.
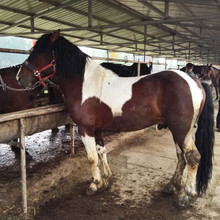
[[[179,148],[178,144],[176,144],[176,153],[178,162],[171,181],[165,186],[163,190],[163,192],[166,194],[173,194],[176,190],[180,190],[182,188],[182,177],[186,162],[184,158],[184,153]]]

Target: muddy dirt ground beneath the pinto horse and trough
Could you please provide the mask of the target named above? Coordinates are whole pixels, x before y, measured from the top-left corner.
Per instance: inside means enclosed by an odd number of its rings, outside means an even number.
[[[26,219],[155,219],[205,220],[219,219],[220,215],[220,134],[216,133],[214,178],[207,195],[198,198],[192,207],[177,209],[175,196],[164,196],[162,189],[169,182],[176,155],[168,130],[155,127],[139,132],[107,136],[109,164],[113,177],[107,191],[95,196],[85,195],[91,179],[85,150],[77,139],[76,154],[69,156],[69,137],[64,129],[53,139],[57,148],[46,145],[48,136],[40,143],[30,141],[31,158],[27,163],[28,215]],[[59,136],[60,135],[60,136]],[[61,140],[62,139],[62,140]],[[34,154],[48,154],[45,160]],[[48,149],[49,148],[49,149]],[[32,150],[31,150],[32,149]],[[54,153],[56,151],[56,153]],[[51,153],[53,152],[53,154]],[[8,154],[13,154],[8,152]],[[52,156],[50,157],[50,155]],[[5,155],[1,155],[5,158]],[[11,156],[0,166],[0,219],[25,219],[21,209],[19,159]]]

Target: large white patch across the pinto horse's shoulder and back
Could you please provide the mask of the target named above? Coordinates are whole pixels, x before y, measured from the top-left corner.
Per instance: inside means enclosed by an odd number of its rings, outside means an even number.
[[[122,106],[132,97],[132,85],[143,77],[118,77],[112,71],[88,59],[81,104],[89,98],[96,97],[111,108],[113,116],[120,116]]]

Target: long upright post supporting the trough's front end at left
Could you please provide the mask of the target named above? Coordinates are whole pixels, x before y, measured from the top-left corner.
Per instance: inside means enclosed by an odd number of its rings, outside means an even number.
[[[27,176],[26,176],[26,149],[25,149],[25,121],[20,119],[20,144],[21,144],[21,187],[23,211],[27,213]]]

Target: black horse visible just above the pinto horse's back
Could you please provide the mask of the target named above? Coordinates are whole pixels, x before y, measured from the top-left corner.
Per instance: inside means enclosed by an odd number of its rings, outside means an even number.
[[[131,77],[138,75],[138,63],[133,63],[131,66],[116,64],[116,63],[109,63],[104,62],[101,63],[101,66],[113,71],[118,76],[121,77]],[[152,62],[150,63],[149,67],[145,63],[140,64],[140,76],[150,74],[152,71]]]

